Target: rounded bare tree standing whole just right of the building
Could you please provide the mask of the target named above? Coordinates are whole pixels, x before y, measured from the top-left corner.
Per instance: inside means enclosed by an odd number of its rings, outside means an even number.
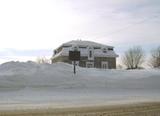
[[[122,63],[127,69],[138,69],[144,63],[145,54],[141,47],[136,46],[127,50],[122,57]]]

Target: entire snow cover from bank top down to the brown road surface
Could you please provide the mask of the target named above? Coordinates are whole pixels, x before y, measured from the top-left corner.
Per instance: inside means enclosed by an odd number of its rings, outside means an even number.
[[[69,64],[0,65],[0,109],[160,101],[160,70],[103,70]]]

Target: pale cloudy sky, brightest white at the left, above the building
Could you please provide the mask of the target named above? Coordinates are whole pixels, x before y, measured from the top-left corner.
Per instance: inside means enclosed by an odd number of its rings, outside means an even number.
[[[160,0],[0,0],[0,63],[50,58],[79,39],[149,53],[160,45]]]

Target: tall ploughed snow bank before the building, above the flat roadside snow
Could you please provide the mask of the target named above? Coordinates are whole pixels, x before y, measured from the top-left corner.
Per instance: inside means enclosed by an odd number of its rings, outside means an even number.
[[[8,62],[0,65],[0,89],[26,87],[52,88],[130,88],[160,89],[159,70],[103,70],[65,63],[36,64]]]

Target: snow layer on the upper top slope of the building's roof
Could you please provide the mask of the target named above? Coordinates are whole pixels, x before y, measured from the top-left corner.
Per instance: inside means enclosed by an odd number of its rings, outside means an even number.
[[[82,41],[82,40],[72,40],[62,44],[62,46],[72,46],[72,45],[85,46],[85,47],[92,46],[92,47],[102,47],[102,48],[103,47],[113,48],[113,46],[108,46],[108,45],[104,45],[104,44],[92,42],[92,41]]]

